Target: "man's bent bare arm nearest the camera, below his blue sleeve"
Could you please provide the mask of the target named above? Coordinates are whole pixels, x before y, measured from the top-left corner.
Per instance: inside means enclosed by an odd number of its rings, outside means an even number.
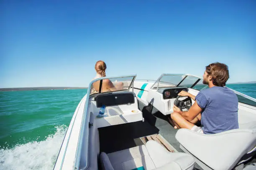
[[[178,110],[177,110],[178,109]],[[179,112],[186,120],[191,121],[194,120],[200,112],[202,112],[201,107],[197,105],[197,101],[190,107],[188,111],[182,112],[179,110],[177,106],[174,105],[174,111]]]

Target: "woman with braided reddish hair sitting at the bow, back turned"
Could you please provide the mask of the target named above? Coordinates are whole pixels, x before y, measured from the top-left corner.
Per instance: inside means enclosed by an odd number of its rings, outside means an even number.
[[[104,61],[102,60],[97,61],[95,64],[96,76],[93,78],[93,80],[100,77],[106,77],[106,72],[105,72],[106,69],[107,69],[107,65]],[[100,81],[94,82],[92,86],[95,91],[99,92]],[[102,80],[101,92],[117,91],[122,89],[123,89],[123,82],[118,83],[116,86],[114,86],[109,79]]]

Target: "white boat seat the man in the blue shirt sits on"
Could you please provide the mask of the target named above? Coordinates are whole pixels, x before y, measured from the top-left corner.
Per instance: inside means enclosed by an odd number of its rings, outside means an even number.
[[[231,170],[256,154],[256,128],[249,127],[211,135],[179,129],[175,137],[204,170]]]

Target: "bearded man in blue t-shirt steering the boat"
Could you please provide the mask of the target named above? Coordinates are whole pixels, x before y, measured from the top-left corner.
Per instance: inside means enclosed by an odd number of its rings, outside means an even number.
[[[174,105],[171,114],[177,128],[186,128],[198,133],[215,134],[238,128],[238,98],[224,87],[229,78],[228,66],[219,62],[206,66],[203,84],[208,89],[201,90],[195,97],[195,103],[188,111],[182,112]],[[194,120],[201,113],[202,128],[194,125]]]

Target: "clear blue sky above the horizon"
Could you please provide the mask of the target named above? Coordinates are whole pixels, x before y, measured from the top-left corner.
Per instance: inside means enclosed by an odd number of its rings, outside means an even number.
[[[229,66],[228,82],[256,81],[256,1],[0,2],[0,87],[87,87],[107,76],[202,76]]]

